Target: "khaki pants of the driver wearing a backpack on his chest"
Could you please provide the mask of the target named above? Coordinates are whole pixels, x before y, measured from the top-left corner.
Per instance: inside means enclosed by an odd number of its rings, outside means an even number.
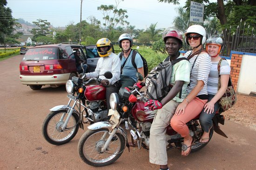
[[[162,109],[158,110],[150,128],[149,137],[149,162],[166,165],[166,127],[175,113],[179,103],[174,100],[169,101]]]

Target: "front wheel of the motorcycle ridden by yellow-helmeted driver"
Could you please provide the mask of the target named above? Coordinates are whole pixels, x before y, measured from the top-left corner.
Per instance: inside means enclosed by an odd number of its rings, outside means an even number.
[[[63,115],[65,114],[65,116]],[[64,116],[63,120],[61,117]],[[51,111],[45,118],[42,126],[43,137],[50,144],[61,145],[72,140],[79,129],[79,116],[75,113],[70,117],[65,131],[62,131],[62,125],[67,118],[67,111]]]

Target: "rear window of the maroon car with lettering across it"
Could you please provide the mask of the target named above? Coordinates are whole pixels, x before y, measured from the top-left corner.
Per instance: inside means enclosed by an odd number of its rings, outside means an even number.
[[[22,61],[58,59],[56,47],[41,47],[28,49]]]

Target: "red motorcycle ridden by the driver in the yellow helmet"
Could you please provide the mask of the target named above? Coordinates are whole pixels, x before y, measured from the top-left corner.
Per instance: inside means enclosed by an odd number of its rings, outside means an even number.
[[[105,72],[104,76],[112,78],[112,73]],[[73,77],[67,81],[67,105],[51,108],[45,118],[42,134],[50,144],[66,144],[75,137],[79,127],[84,129],[83,124],[108,119],[106,87],[100,85],[99,77],[87,80],[84,77],[85,74],[81,78]]]

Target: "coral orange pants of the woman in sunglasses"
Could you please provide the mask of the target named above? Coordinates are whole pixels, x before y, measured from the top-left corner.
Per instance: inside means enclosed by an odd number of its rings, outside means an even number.
[[[195,97],[192,101],[189,102],[183,115],[182,113],[180,115],[173,115],[171,119],[172,128],[182,137],[188,136],[189,128],[186,123],[201,113],[203,106],[207,103],[207,101],[207,99],[202,100],[198,97]]]

